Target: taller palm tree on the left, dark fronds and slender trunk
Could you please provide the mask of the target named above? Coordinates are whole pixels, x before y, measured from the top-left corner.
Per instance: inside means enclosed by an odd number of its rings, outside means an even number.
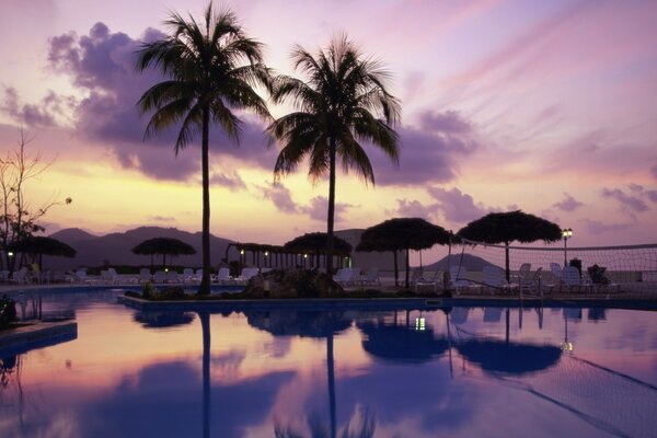
[[[166,80],[151,87],[137,105],[153,112],[145,138],[181,123],[174,151],[191,143],[200,132],[203,173],[203,279],[199,295],[210,291],[210,119],[239,142],[241,120],[234,110],[247,108],[268,118],[265,101],[254,91],[269,84],[262,64],[262,44],[246,37],[230,10],[215,14],[210,2],[201,23],[171,13],[164,22],[172,33],[146,43],[138,50],[137,69],[159,68]]]

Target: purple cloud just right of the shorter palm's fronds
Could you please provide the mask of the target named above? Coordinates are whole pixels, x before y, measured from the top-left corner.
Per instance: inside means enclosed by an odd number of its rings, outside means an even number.
[[[473,125],[457,112],[425,112],[419,127],[401,127],[400,165],[377,148],[368,151],[379,185],[446,183],[459,174],[460,161],[483,147]]]

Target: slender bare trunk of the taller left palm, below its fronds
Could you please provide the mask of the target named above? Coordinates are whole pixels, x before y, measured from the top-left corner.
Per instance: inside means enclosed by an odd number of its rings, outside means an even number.
[[[203,277],[198,287],[198,295],[210,295],[210,160],[209,160],[209,127],[210,108],[203,111],[203,140],[201,140],[201,172],[203,172]]]

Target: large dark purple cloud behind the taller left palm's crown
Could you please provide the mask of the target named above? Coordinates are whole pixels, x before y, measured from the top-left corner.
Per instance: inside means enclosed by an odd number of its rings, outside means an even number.
[[[200,169],[197,145],[199,135],[177,157],[173,148],[177,128],[173,126],[143,139],[149,115],[140,115],[137,102],[141,94],[162,81],[155,70],[136,72],[136,50],[143,42],[159,39],[160,31],[148,28],[141,38],[112,33],[104,23],[96,23],[88,35],[67,33],[49,39],[48,61],[60,73],[85,92],[73,112],[76,132],[95,140],[111,150],[117,162],[158,180],[188,180]],[[212,157],[235,158],[242,162],[270,170],[276,150],[268,149],[264,126],[257,119],[240,115],[241,141],[237,147],[220,128],[210,129]]]

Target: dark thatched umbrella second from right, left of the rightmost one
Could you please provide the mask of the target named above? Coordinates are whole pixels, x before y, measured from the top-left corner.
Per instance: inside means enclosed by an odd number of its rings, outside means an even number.
[[[392,251],[394,256],[394,283],[397,285],[396,252],[406,250],[406,287],[408,285],[408,251],[427,250],[435,244],[450,243],[450,233],[419,218],[389,219],[370,227],[360,235],[356,251]]]

